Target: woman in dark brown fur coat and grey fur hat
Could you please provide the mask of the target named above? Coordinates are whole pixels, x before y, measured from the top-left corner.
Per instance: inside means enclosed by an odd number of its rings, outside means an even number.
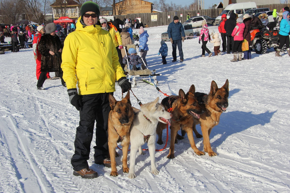
[[[61,52],[62,44],[57,35],[55,35],[56,25],[54,23],[48,23],[44,25],[45,34],[41,36],[38,50],[41,54],[41,68],[40,75],[37,81],[37,89],[45,90],[43,86],[46,80],[47,72],[59,72],[61,78],[61,84],[66,87],[66,83],[62,78],[61,70]]]

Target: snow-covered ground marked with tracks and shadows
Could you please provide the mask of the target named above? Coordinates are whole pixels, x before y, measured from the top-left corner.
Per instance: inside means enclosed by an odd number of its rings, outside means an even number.
[[[208,93],[212,80],[221,87],[229,79],[229,107],[210,136],[218,156],[197,156],[185,136],[175,145],[175,159],[166,158],[169,146],[156,152],[157,176],[151,174],[146,152],[137,156],[135,179],[123,173],[121,157],[119,176],[110,177],[110,168],[93,164],[93,154],[88,163],[99,177],[75,177],[70,158],[79,113],[60,80],[46,80],[46,90],[36,89],[30,48],[0,55],[0,192],[290,192],[289,56],[275,57],[271,48],[263,55],[252,52],[252,60],[239,62],[230,62],[232,54],[200,57],[201,44],[193,38],[183,43],[183,63],[170,62],[172,48],[166,42],[168,63],[162,65],[157,53],[167,26],[146,30],[147,62],[149,69],[162,73],[158,77],[162,92],[178,95],[180,88],[187,92],[194,84],[196,91]],[[218,27],[209,30],[218,32]],[[213,44],[207,45],[213,51]],[[143,104],[164,97],[145,82],[137,82],[132,90]],[[119,87],[115,97],[121,99]],[[133,95],[131,102],[139,107]],[[197,130],[201,132],[200,127]],[[203,149],[202,138],[195,138],[195,143]]]

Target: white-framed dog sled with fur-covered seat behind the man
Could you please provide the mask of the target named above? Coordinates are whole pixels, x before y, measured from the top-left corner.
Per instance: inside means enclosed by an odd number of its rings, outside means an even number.
[[[136,50],[138,56],[140,56],[140,58],[142,60],[142,67],[143,67],[143,69],[140,69],[140,70],[130,70],[129,61],[127,58],[127,64],[125,65],[124,69],[125,69],[125,71],[128,72],[128,74],[126,76],[127,76],[127,79],[129,80],[129,82],[131,82],[132,87],[135,87],[137,85],[138,80],[141,80],[143,82],[147,82],[148,84],[157,85],[158,84],[157,76],[161,76],[162,74],[156,74],[156,70],[151,71],[148,69],[143,58],[141,57],[141,54],[140,54],[139,49],[138,49],[138,44],[136,44],[136,45],[130,44],[130,45],[124,46],[126,56],[127,56],[127,52],[128,52],[129,48],[134,48]]]

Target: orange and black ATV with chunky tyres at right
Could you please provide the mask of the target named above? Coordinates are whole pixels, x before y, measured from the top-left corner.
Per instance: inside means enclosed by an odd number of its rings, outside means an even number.
[[[276,22],[269,22],[267,27],[259,26],[257,29],[251,30],[252,49],[255,49],[256,54],[265,54],[267,49],[274,47],[276,50],[279,46],[279,28],[276,27]],[[275,29],[274,29],[275,28]],[[281,52],[285,50],[282,47]]]

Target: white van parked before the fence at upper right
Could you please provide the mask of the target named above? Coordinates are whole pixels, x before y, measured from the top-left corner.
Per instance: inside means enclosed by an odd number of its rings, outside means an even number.
[[[246,3],[232,3],[226,6],[222,13],[215,18],[215,23],[219,23],[222,19],[222,15],[226,14],[226,18],[229,19],[231,13],[237,13],[238,16],[244,14],[245,11],[249,9],[255,9],[257,5],[255,2],[246,2]]]

